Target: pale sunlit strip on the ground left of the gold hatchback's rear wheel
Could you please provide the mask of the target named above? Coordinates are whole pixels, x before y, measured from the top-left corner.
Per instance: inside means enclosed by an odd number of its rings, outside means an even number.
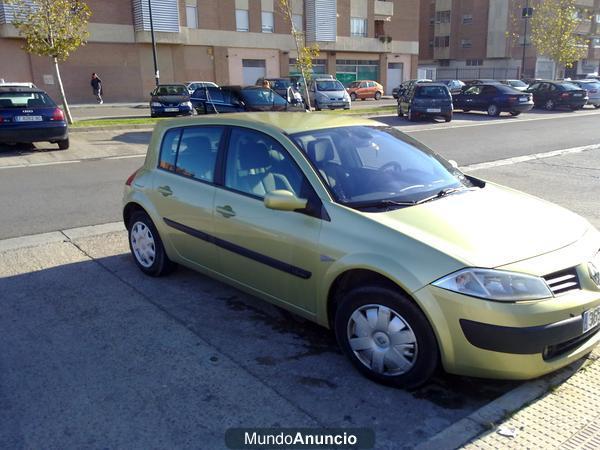
[[[10,239],[0,240],[0,253],[18,250],[27,247],[51,244],[53,242],[69,242],[76,239],[100,236],[103,234],[119,233],[125,230],[123,222],[111,222],[102,225],[88,227],[70,228],[62,231],[51,231],[49,233],[32,234]]]

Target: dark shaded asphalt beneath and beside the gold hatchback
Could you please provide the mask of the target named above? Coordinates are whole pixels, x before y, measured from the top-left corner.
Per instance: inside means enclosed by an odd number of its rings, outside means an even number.
[[[413,392],[376,384],[326,329],[187,269],[149,278],[129,254],[1,284],[4,413],[71,429],[50,446],[79,442],[74,436],[88,436],[94,423],[102,445],[136,426],[198,437],[229,426],[318,424],[373,427],[380,448],[412,447],[515,386],[442,373]],[[257,392],[277,404],[257,403]],[[312,425],[290,419],[298,411]]]

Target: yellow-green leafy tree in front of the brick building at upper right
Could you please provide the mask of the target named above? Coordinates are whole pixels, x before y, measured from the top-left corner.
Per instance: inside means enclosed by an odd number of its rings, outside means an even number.
[[[521,3],[524,7],[525,2]],[[554,61],[554,78],[560,67],[572,67],[588,52],[589,38],[576,34],[582,18],[575,3],[575,0],[541,0],[532,5],[531,43],[538,54]]]

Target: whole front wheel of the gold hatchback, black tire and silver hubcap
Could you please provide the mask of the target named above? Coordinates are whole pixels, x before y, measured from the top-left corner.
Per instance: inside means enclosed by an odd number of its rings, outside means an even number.
[[[336,312],[335,333],[356,368],[380,383],[414,388],[427,382],[438,365],[429,322],[396,290],[371,286],[350,291]]]

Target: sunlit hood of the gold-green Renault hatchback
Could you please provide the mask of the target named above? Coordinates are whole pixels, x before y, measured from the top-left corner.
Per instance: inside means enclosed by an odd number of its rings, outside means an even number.
[[[552,252],[579,240],[590,227],[564,208],[491,183],[369,216],[474,267]]]

